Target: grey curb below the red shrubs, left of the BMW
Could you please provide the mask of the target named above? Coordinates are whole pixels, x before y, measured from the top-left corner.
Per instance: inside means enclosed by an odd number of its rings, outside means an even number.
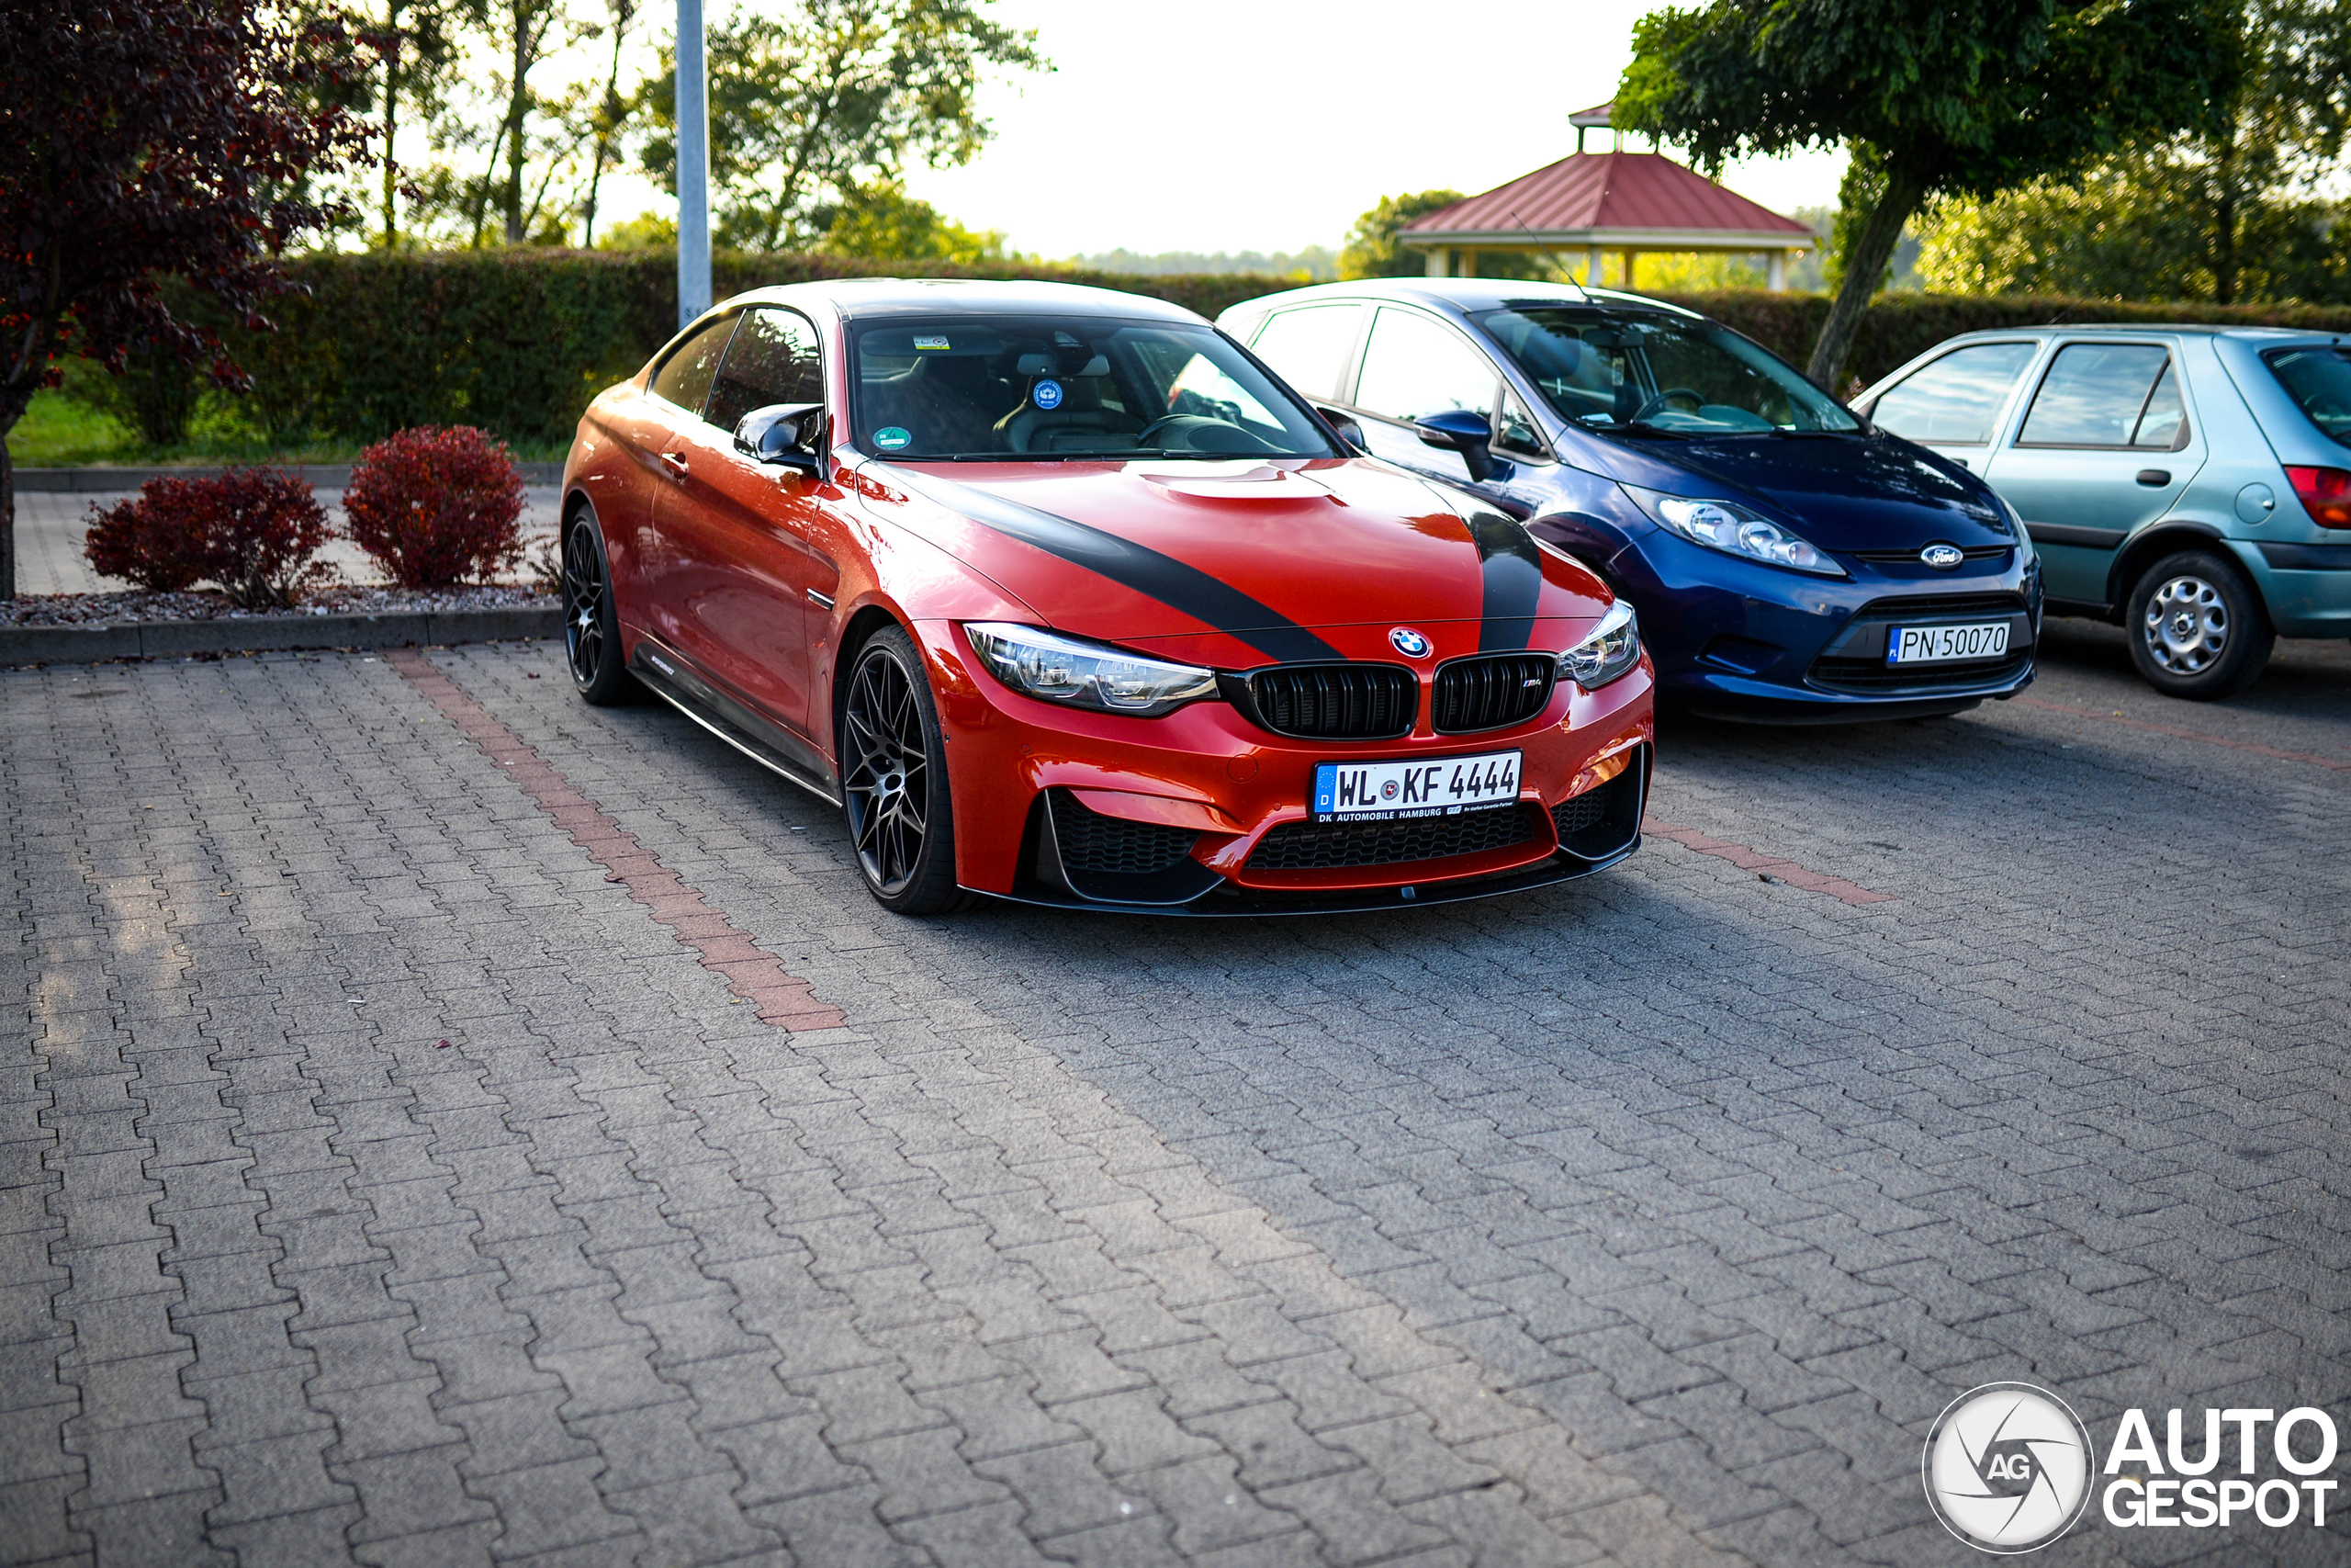
[[[390,616],[223,616],[115,625],[0,625],[0,665],[89,665],[108,658],[263,654],[280,649],[397,649],[560,637],[564,611],[444,609]]]

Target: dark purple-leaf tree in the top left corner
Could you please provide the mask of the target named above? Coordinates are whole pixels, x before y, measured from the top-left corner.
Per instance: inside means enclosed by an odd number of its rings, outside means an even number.
[[[252,0],[0,0],[0,599],[16,597],[5,437],[68,355],[136,348],[245,376],[174,313],[183,277],[247,329],[292,284],[277,256],[339,207],[317,179],[362,160],[334,28]]]

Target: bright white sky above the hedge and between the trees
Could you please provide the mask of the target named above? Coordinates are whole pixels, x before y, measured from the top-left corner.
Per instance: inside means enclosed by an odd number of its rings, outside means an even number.
[[[1568,115],[1615,94],[1657,5],[997,0],[1056,68],[990,87],[994,141],[907,188],[1044,256],[1338,247],[1382,195],[1491,190],[1575,150]],[[710,0],[712,19],[726,7]],[[1787,212],[1831,205],[1841,174],[1843,153],[1806,153],[1723,183]],[[642,179],[607,202],[644,207],[675,209]]]

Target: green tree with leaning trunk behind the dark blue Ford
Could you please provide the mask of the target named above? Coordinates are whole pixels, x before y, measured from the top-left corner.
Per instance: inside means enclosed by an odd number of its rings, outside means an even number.
[[[1902,226],[2128,143],[2201,129],[2236,61],[2210,0],[1707,0],[1634,26],[1615,122],[1700,169],[1846,146],[1864,162],[1808,364],[1834,386]]]

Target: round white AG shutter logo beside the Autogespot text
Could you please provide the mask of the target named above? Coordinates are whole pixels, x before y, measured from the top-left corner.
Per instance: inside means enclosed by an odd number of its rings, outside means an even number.
[[[2029,1382],[1954,1399],[1925,1439],[1925,1500],[1977,1552],[2038,1552],[2090,1502],[2090,1429]]]

